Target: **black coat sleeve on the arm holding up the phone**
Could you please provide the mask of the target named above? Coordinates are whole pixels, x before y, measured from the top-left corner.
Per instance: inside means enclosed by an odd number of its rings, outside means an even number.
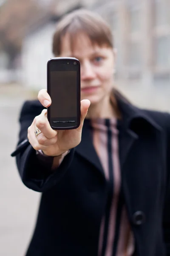
[[[42,107],[34,106],[31,101],[24,103],[20,113],[20,134],[19,142],[27,140],[28,127],[39,115]],[[51,165],[44,165],[37,157],[36,150],[29,143],[25,143],[16,154],[17,168],[23,183],[29,188],[38,192],[44,192],[55,186],[64,176],[74,156],[74,149],[65,156],[60,166],[51,171]]]

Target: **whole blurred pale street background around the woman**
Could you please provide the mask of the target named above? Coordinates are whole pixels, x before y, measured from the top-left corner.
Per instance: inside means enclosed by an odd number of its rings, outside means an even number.
[[[23,256],[40,194],[20,181],[10,157],[26,99],[46,88],[57,21],[78,8],[113,30],[116,83],[140,107],[170,111],[170,0],[0,0],[0,255]]]

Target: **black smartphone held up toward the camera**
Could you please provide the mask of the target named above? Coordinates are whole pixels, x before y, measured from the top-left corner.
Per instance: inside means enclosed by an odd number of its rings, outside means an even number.
[[[77,58],[51,58],[47,63],[48,121],[54,130],[80,125],[80,62]]]

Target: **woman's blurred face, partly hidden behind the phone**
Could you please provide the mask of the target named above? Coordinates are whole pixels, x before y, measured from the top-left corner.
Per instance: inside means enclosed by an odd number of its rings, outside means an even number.
[[[65,35],[60,56],[74,57],[80,61],[81,99],[89,99],[91,104],[96,104],[110,95],[114,69],[112,48],[93,45],[90,39],[82,34],[71,51],[69,36]]]

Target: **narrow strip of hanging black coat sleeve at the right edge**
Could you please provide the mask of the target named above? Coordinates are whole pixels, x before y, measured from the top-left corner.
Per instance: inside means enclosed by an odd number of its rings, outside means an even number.
[[[167,114],[167,187],[163,212],[164,242],[167,256],[170,256],[170,114]]]

